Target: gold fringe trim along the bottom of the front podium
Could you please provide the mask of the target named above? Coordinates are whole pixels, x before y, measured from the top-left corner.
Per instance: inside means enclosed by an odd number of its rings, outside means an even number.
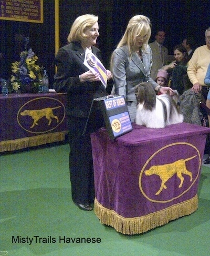
[[[162,226],[169,221],[190,215],[198,208],[198,197],[170,206],[164,210],[135,218],[124,218],[113,210],[104,208],[95,199],[94,211],[102,224],[110,225],[122,234],[140,234]]]

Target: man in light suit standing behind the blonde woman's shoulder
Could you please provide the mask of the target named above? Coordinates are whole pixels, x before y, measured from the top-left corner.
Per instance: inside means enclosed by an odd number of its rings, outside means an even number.
[[[152,50],[151,77],[153,80],[156,79],[158,70],[160,70],[164,65],[167,64],[168,50],[165,46],[163,46],[164,41],[165,32],[159,30],[155,35],[155,41],[149,44]]]

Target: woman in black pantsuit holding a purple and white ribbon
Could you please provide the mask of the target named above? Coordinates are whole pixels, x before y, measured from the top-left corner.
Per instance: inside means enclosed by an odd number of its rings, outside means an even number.
[[[79,209],[85,211],[92,210],[95,189],[90,135],[82,133],[92,100],[107,95],[99,74],[83,64],[86,48],[101,59],[100,50],[93,46],[98,36],[98,16],[79,16],[71,26],[67,38],[69,44],[61,47],[55,57],[57,73],[54,88],[56,92],[67,92],[71,195]],[[111,72],[107,70],[108,80],[111,77]]]

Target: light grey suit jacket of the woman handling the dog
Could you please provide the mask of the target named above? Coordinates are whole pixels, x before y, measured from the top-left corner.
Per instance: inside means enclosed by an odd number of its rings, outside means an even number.
[[[116,95],[124,95],[127,101],[136,101],[135,85],[141,82],[151,82],[153,87],[158,86],[150,77],[152,52],[148,46],[142,52],[143,62],[136,52],[129,55],[128,46],[121,46],[113,53],[113,80]]]

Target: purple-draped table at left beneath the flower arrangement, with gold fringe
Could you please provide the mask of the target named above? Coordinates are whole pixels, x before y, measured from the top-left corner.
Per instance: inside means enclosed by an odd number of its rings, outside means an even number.
[[[0,95],[0,152],[64,141],[66,94]]]

